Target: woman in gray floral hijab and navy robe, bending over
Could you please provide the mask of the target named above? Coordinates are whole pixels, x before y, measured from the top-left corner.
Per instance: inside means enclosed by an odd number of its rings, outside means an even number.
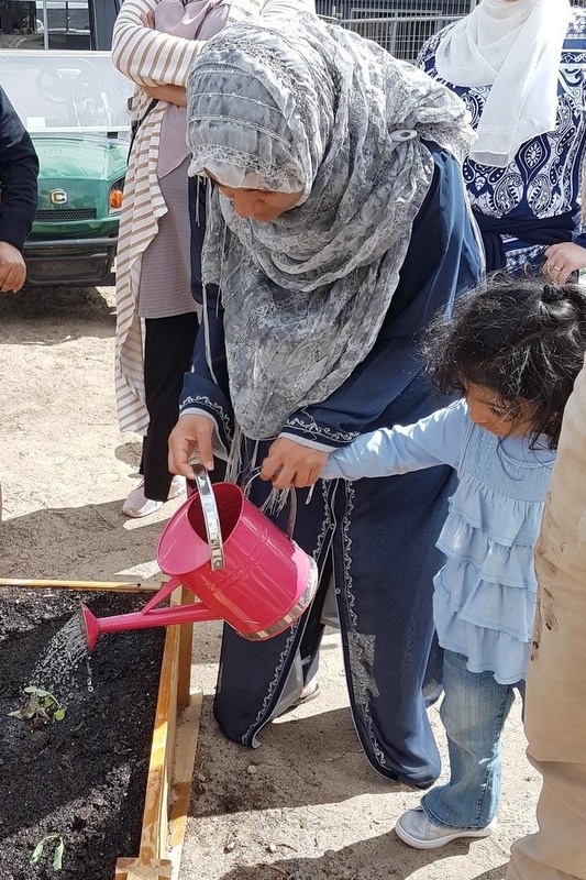
[[[283,636],[252,644],[225,629],[217,718],[254,746],[311,692],[329,593],[368,759],[427,788],[440,769],[422,686],[450,472],[364,488],[319,473],[357,435],[438,407],[418,336],[482,272],[461,179],[464,107],[356,34],[267,16],[201,53],[188,131],[191,174],[214,184],[206,333],[169,466],[192,476],[188,454],[212,466],[213,444],[235,479],[262,465],[256,503],[295,486],[295,539],[320,569],[311,609]]]

